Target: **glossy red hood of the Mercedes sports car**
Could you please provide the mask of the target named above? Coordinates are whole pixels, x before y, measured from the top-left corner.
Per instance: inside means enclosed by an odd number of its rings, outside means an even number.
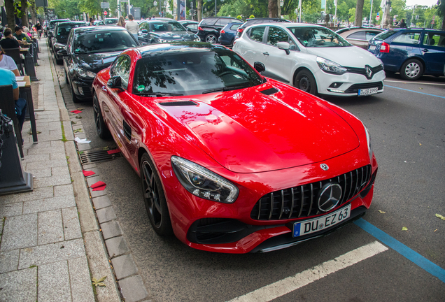
[[[261,92],[269,88],[171,99],[189,106],[159,106],[185,137],[236,173],[312,164],[358,148],[355,131],[322,101],[295,89]]]

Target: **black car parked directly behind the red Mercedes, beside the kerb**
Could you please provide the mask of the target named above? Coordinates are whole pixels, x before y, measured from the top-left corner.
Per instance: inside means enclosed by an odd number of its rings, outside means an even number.
[[[123,50],[138,45],[134,36],[122,27],[71,29],[66,47],[57,55],[64,57],[65,78],[71,85],[73,102],[92,99],[91,86],[96,73],[110,66]]]

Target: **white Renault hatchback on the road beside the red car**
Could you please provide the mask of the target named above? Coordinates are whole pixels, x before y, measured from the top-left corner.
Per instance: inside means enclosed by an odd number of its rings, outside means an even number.
[[[266,67],[262,75],[311,94],[363,96],[383,92],[382,62],[320,25],[255,24],[236,39],[233,50],[252,66],[262,62]]]

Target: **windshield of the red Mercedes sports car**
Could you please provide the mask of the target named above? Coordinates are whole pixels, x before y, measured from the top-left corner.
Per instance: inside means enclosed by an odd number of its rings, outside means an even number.
[[[230,50],[192,50],[139,59],[134,94],[193,95],[260,85],[262,78]]]

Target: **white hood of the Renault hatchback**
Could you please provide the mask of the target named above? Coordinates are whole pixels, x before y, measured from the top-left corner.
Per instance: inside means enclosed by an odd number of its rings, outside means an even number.
[[[371,52],[356,46],[332,48],[306,48],[312,55],[329,59],[341,66],[363,68],[365,65],[375,67],[381,64]]]

